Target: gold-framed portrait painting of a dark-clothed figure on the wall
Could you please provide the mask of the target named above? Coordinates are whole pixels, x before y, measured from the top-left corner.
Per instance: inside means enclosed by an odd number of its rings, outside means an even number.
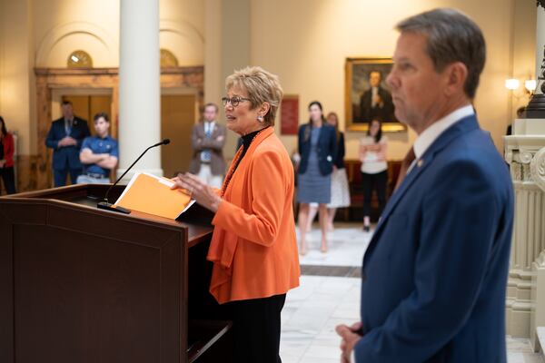
[[[367,131],[375,118],[382,121],[384,132],[407,130],[395,118],[390,87],[386,84],[391,65],[391,58],[346,58],[346,130]]]

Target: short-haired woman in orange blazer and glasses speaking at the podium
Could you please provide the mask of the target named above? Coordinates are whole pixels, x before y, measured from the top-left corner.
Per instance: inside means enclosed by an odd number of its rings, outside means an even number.
[[[272,128],[282,100],[278,77],[247,67],[227,77],[227,128],[243,137],[222,190],[192,174],[178,188],[215,212],[208,260],[210,292],[233,320],[235,362],[280,362],[281,311],[299,285],[293,167]]]

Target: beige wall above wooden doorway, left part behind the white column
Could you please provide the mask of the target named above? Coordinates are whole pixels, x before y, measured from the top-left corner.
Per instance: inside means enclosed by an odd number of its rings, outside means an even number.
[[[0,0],[0,113],[35,154],[35,67],[65,67],[83,49],[94,67],[119,65],[120,0]],[[180,65],[204,63],[204,3],[161,0],[161,47]]]

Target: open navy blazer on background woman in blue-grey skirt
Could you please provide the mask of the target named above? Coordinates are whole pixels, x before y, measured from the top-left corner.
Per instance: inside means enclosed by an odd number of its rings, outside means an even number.
[[[311,126],[308,123],[299,127],[299,162],[298,173],[304,174],[309,164],[311,154]],[[308,137],[305,133],[308,133]],[[306,139],[306,140],[305,140]],[[333,171],[333,162],[337,157],[337,135],[332,125],[324,123],[318,138],[318,166],[322,175],[329,175]]]

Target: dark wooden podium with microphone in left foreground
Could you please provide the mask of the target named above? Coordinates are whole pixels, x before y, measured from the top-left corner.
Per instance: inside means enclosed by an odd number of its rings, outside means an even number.
[[[109,186],[0,198],[0,362],[226,361],[230,323],[213,319],[208,293],[211,213],[96,209]]]

